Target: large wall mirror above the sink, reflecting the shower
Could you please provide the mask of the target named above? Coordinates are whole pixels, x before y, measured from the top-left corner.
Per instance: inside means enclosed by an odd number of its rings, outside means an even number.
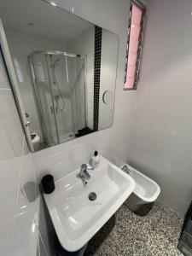
[[[32,151],[113,125],[118,36],[41,0],[2,0],[0,18]]]

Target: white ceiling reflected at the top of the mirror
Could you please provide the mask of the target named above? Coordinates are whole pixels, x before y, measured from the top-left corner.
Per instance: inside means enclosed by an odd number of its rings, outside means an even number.
[[[92,26],[42,0],[0,0],[0,18],[3,26],[61,42],[67,42]]]

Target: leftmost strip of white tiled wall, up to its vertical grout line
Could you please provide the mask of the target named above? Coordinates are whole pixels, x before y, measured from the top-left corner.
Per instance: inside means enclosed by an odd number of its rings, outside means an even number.
[[[15,208],[20,177],[20,156],[22,155],[23,133],[20,129],[19,119],[16,119],[16,122],[14,123],[17,112],[13,101],[12,91],[9,87],[9,82],[3,67],[2,58],[0,72],[0,247],[4,255],[9,255],[12,243],[13,226],[15,222]],[[12,129],[11,133],[7,131],[7,127],[9,127],[9,130]],[[12,137],[20,138],[17,144],[14,142],[15,139],[12,141]],[[14,148],[16,149],[16,153]]]

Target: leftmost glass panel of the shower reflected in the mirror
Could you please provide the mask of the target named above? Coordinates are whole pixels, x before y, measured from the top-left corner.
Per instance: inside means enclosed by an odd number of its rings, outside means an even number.
[[[33,92],[39,124],[44,134],[43,143],[54,145],[59,141],[51,93],[49,58],[44,53],[34,53],[28,57],[28,60],[32,73]]]

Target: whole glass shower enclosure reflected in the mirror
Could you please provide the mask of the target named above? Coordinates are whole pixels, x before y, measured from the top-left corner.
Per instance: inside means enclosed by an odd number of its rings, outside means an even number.
[[[41,143],[67,142],[85,127],[84,56],[61,51],[28,55]]]

